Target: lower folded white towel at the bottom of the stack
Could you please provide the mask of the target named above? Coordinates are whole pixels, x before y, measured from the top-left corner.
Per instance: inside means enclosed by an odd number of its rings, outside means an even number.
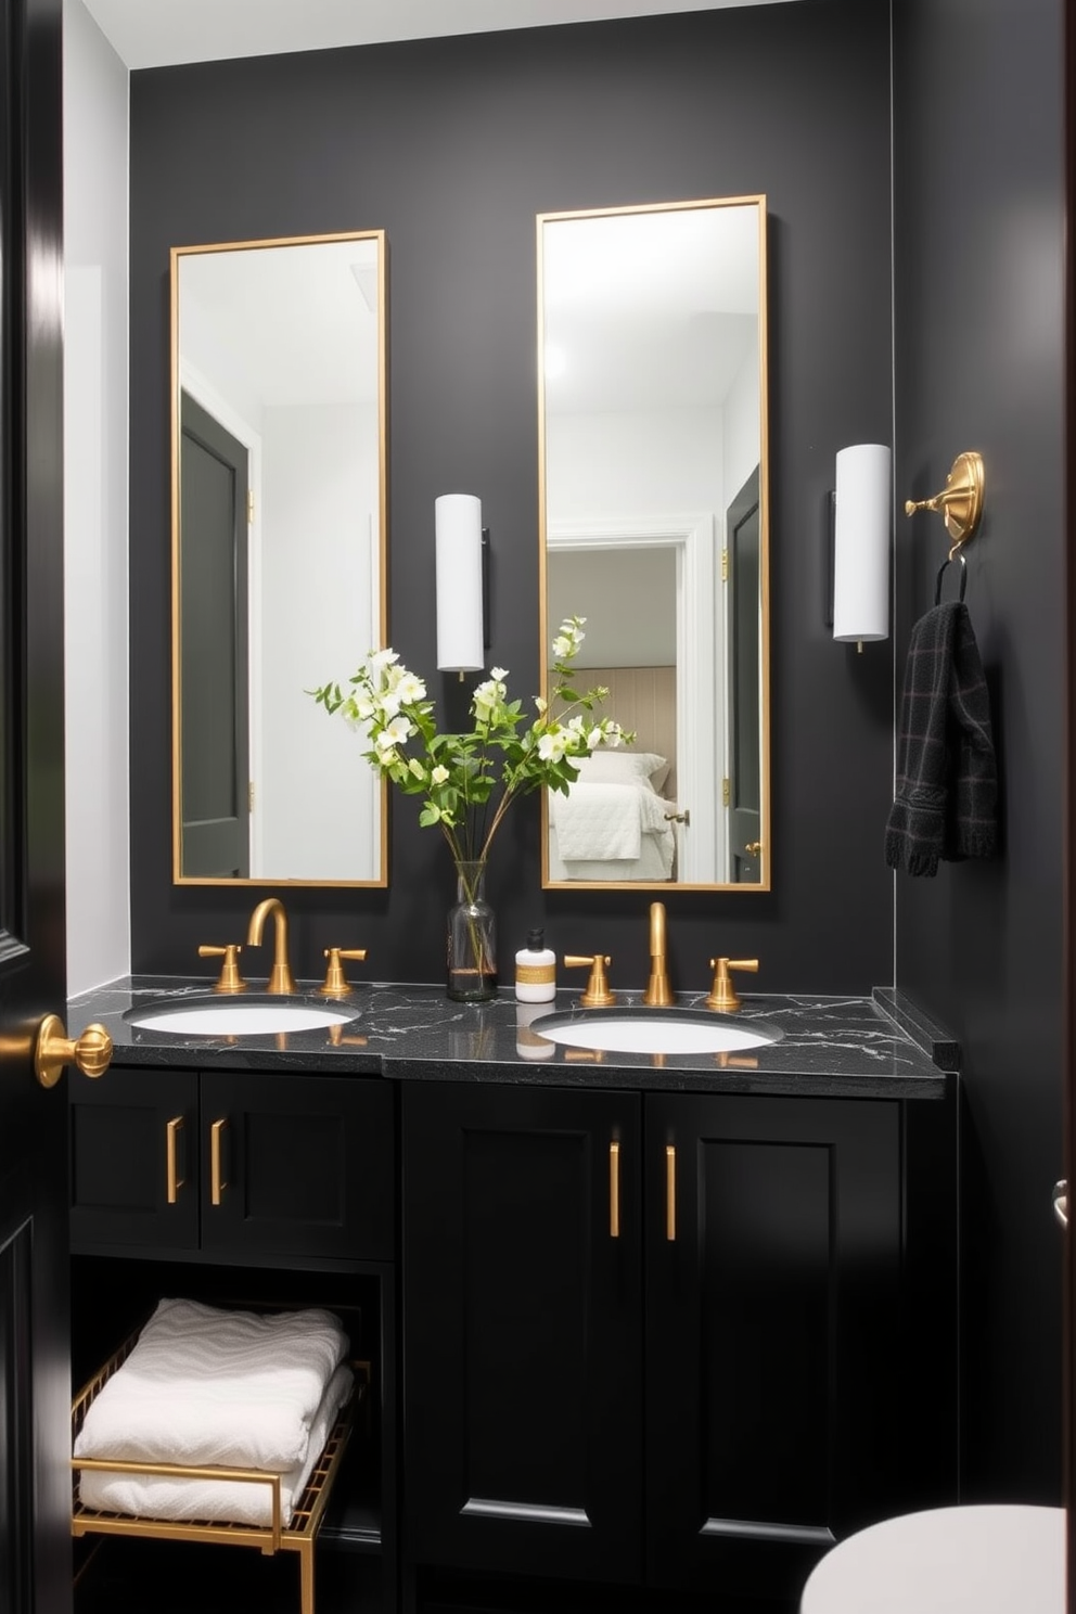
[[[313,1467],[324,1451],[332,1425],[347,1401],[352,1369],[342,1364],[329,1380],[324,1399],[310,1428],[307,1457],[281,1475],[281,1522],[287,1527],[295,1503],[307,1490]],[[105,1469],[79,1472],[84,1507],[97,1512],[132,1514],[136,1519],[179,1519],[211,1524],[273,1524],[273,1490],[244,1480],[186,1480],[160,1474],[108,1474]]]

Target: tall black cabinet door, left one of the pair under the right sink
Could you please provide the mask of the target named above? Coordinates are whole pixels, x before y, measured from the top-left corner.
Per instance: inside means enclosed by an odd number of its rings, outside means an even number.
[[[637,1582],[642,1099],[402,1098],[410,1554]]]

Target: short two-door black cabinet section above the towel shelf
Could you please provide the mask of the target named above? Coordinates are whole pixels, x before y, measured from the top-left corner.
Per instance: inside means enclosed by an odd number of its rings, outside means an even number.
[[[76,1252],[395,1259],[381,1080],[73,1070],[69,1109]]]

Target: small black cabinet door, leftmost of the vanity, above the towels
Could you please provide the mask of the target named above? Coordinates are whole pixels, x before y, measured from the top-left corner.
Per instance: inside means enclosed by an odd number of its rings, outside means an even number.
[[[71,1248],[198,1248],[198,1078],[68,1072]]]

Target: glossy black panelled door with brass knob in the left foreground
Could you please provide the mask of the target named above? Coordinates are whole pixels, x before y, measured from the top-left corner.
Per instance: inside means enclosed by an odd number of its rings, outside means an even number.
[[[71,1608],[61,0],[0,0],[0,1608]]]

